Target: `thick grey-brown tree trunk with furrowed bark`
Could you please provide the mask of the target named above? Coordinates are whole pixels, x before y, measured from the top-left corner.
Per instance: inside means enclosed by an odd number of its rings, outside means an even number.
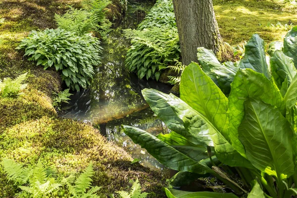
[[[182,51],[182,62],[198,62],[197,48],[212,49],[222,59],[224,43],[215,19],[212,0],[173,0]]]

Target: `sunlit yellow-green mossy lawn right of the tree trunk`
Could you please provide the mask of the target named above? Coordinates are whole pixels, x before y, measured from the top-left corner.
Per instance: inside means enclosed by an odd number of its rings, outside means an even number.
[[[237,45],[254,33],[265,42],[282,40],[288,30],[267,27],[268,23],[297,25],[297,5],[289,0],[214,1],[216,19],[225,42]]]

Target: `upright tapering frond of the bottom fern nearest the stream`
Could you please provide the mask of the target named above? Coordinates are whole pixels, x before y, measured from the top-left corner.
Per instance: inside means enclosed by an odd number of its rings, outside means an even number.
[[[83,173],[74,182],[75,189],[79,193],[85,193],[91,187],[92,176],[94,175],[93,163],[91,162]]]

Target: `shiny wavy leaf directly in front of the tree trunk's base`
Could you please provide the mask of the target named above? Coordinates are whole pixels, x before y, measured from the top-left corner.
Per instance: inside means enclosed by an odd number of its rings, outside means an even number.
[[[211,78],[223,93],[229,94],[230,84],[238,68],[230,64],[222,65],[210,49],[198,48],[197,57],[205,74]]]

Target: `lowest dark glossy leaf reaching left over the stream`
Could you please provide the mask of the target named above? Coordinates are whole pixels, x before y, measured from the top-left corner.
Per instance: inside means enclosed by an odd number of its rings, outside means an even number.
[[[124,130],[135,144],[146,148],[148,153],[168,168],[198,174],[213,172],[206,164],[191,159],[146,131],[131,126],[124,126]]]

